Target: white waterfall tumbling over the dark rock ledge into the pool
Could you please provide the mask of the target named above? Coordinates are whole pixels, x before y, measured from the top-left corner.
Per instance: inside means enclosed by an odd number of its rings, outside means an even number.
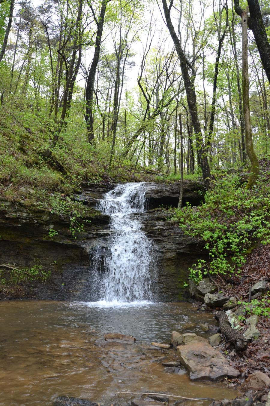
[[[105,194],[99,209],[111,217],[111,255],[105,258],[106,302],[151,300],[151,240],[141,230],[145,212],[143,183],[119,184]]]

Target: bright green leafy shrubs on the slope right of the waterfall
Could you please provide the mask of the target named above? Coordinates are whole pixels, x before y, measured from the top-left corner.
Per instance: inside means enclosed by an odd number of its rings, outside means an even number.
[[[210,261],[198,260],[190,268],[190,278],[203,275],[240,274],[247,249],[256,241],[270,243],[269,173],[263,173],[253,190],[239,184],[239,177],[216,175],[205,203],[175,210],[174,219],[191,237],[200,237]]]

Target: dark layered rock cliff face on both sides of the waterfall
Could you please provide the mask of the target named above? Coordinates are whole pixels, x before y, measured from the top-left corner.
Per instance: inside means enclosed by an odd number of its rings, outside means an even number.
[[[0,252],[1,264],[31,267],[36,259],[51,270],[51,280],[46,283],[29,283],[21,287],[19,294],[2,289],[0,297],[33,297],[54,300],[98,300],[92,281],[97,263],[102,272],[102,257],[110,249],[109,218],[95,209],[99,199],[114,185],[89,185],[74,199],[85,205],[84,231],[72,237],[69,218],[57,216],[38,207],[0,201]],[[143,227],[153,241],[153,266],[157,280],[153,283],[156,297],[162,301],[181,300],[185,297],[183,281],[188,268],[196,260],[202,245],[198,240],[184,235],[170,221],[170,213],[159,205],[178,204],[179,185],[147,183],[147,213]],[[185,182],[184,197],[193,203],[202,199],[200,182]],[[49,230],[57,235],[49,236]],[[0,267],[6,274],[8,268]]]

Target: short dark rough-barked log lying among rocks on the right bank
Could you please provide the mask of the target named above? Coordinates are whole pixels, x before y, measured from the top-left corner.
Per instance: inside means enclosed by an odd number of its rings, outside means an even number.
[[[226,313],[224,311],[217,311],[215,319],[219,322],[221,333],[226,337],[227,341],[230,341],[234,345],[236,351],[245,351],[248,341],[239,331],[235,331],[231,327]]]

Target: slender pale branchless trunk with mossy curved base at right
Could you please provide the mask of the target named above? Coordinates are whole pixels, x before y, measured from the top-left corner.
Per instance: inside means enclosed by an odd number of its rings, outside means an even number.
[[[252,142],[251,120],[249,109],[249,67],[247,59],[247,10],[242,14],[242,93],[244,108],[244,126],[246,150],[251,162],[251,173],[247,182],[247,189],[256,183],[259,173],[259,161]]]

